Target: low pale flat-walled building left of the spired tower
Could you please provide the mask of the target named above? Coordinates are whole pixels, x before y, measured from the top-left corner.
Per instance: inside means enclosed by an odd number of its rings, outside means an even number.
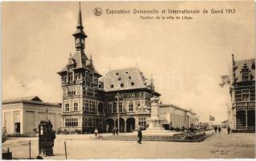
[[[61,105],[43,102],[39,97],[2,101],[2,127],[7,134],[35,134],[39,122],[46,118],[51,120],[54,130],[60,128]]]

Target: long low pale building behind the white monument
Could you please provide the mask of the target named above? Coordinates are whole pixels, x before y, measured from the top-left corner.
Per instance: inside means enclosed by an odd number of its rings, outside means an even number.
[[[165,129],[182,129],[183,127],[195,128],[198,122],[198,118],[196,118],[195,113],[172,104],[159,105],[159,115],[160,118],[164,120],[163,126]]]

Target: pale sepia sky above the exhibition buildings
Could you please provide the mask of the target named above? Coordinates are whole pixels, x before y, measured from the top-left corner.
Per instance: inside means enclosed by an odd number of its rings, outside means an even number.
[[[103,14],[95,16],[93,9]],[[192,20],[139,19],[105,10],[235,9],[194,14]],[[81,2],[87,56],[97,71],[134,67],[155,79],[163,103],[192,109],[200,121],[227,119],[228,87],[220,88],[235,60],[254,58],[254,2]],[[75,52],[78,2],[2,2],[2,98],[37,95],[60,102],[56,74]],[[180,83],[181,82],[181,83]]]

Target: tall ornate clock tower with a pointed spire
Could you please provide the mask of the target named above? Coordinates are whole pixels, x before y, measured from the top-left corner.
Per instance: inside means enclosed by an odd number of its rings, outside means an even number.
[[[75,38],[76,52],[68,59],[68,64],[58,74],[61,76],[62,98],[62,130],[80,130],[84,133],[93,132],[97,127],[103,129],[103,104],[101,77],[94,66],[93,59],[85,54],[85,39],[79,7],[78,23]]]

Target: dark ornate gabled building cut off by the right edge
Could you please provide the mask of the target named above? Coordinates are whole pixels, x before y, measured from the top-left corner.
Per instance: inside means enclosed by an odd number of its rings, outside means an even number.
[[[255,59],[233,59],[229,71],[229,126],[234,131],[255,132]],[[222,79],[223,80],[223,79]],[[223,85],[225,85],[223,81]]]

